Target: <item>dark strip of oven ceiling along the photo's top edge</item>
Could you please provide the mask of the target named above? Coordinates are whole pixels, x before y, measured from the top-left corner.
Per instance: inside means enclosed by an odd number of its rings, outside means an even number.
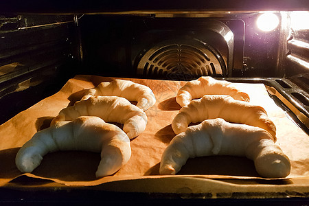
[[[275,0],[275,1],[225,1],[225,0],[205,0],[205,1],[47,1],[47,0],[3,0],[1,1],[1,13],[66,13],[84,14],[100,12],[129,12],[129,11],[265,11],[265,10],[306,10],[307,0]]]

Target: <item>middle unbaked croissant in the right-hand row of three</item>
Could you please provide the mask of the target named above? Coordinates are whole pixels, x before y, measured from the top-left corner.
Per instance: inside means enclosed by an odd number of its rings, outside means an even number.
[[[238,101],[229,95],[205,95],[183,106],[172,121],[174,133],[185,131],[190,123],[222,118],[227,122],[258,126],[276,138],[276,127],[262,106]]]

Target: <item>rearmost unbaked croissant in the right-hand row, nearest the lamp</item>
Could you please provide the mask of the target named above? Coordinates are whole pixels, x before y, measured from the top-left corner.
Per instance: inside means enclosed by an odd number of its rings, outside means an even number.
[[[250,102],[249,95],[240,91],[235,84],[225,81],[216,80],[210,76],[202,76],[197,80],[187,82],[176,95],[176,102],[180,106],[185,106],[196,98],[203,95],[230,95],[235,100]]]

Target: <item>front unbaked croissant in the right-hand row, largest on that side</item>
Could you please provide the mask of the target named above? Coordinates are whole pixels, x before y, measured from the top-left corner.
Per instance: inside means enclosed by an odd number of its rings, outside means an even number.
[[[161,157],[160,174],[176,174],[187,159],[210,155],[247,157],[266,178],[290,174],[290,160],[262,128],[207,119],[176,135]]]

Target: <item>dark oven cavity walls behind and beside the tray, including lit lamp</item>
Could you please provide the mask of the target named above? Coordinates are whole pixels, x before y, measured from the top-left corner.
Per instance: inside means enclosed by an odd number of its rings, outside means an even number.
[[[1,124],[76,74],[160,80],[213,76],[263,82],[308,133],[309,25],[304,19],[309,12],[1,14]]]

